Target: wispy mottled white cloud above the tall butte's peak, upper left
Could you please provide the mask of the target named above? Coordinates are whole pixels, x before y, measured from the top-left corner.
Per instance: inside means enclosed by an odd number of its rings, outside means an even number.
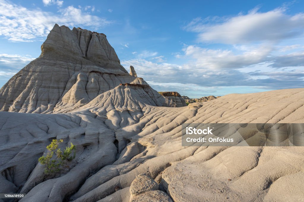
[[[30,42],[45,38],[54,24],[104,27],[112,23],[95,15],[82,13],[73,6],[61,8],[58,13],[30,10],[20,5],[0,0],[0,36],[13,42]]]

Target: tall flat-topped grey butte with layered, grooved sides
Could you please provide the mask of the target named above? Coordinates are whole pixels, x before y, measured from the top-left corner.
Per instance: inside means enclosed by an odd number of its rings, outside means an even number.
[[[104,34],[56,24],[41,45],[41,55],[0,89],[0,110],[58,113],[120,83],[148,86],[135,76],[120,65]]]

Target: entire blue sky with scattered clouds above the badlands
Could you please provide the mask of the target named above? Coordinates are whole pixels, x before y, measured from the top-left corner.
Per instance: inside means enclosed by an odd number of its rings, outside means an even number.
[[[0,0],[0,86],[54,24],[107,36],[157,91],[190,98],[304,87],[304,1]]]

